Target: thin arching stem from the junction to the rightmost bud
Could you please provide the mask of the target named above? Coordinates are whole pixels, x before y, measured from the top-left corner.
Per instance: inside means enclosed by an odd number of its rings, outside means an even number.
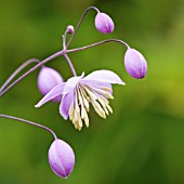
[[[111,42],[111,41],[119,42],[119,43],[126,45],[128,49],[130,48],[129,44],[126,43],[126,42],[122,41],[122,40],[118,40],[118,39],[108,39],[108,40],[100,41],[100,42],[96,42],[96,43],[93,43],[93,44],[89,44],[89,45],[86,45],[86,47],[81,47],[81,48],[77,48],[77,49],[67,50],[67,53],[69,53],[69,52],[82,51],[82,50],[90,49],[90,48],[93,48],[93,47],[96,47],[96,45],[100,45],[100,44],[103,44],[103,43]]]

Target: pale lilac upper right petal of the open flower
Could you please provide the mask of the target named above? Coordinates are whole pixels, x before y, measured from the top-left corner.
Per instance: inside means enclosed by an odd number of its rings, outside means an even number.
[[[83,81],[101,81],[101,82],[107,82],[107,83],[118,83],[118,84],[126,84],[118,75],[110,70],[96,70],[88,75],[82,79]]]

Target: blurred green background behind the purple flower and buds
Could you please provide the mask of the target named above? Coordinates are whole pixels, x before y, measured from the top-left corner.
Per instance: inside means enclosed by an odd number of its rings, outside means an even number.
[[[73,146],[76,165],[67,180],[60,179],[48,163],[50,133],[0,119],[0,184],[184,184],[184,1],[1,0],[0,83],[24,61],[61,50],[66,26],[76,26],[90,5],[109,14],[116,29],[97,32],[91,11],[70,48],[122,39],[145,55],[146,78],[126,73],[126,49],[118,43],[69,54],[78,75],[110,69],[127,83],[114,87],[114,114],[103,120],[91,108],[90,128],[78,132],[57,104],[34,107],[41,97],[39,70],[26,77],[0,98],[0,113],[52,128]],[[65,80],[71,76],[63,57],[48,66]]]

